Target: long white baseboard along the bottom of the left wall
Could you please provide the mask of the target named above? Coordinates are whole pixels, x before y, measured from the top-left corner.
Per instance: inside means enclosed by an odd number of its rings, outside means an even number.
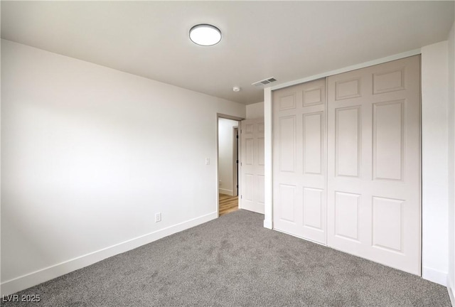
[[[16,293],[17,291],[30,288],[31,286],[36,286],[37,284],[49,281],[50,279],[55,279],[58,276],[68,274],[71,271],[82,269],[83,267],[89,266],[90,264],[100,262],[101,260],[108,257],[127,252],[144,244],[154,242],[157,239],[167,237],[168,235],[173,235],[176,232],[181,232],[182,230],[187,230],[188,228],[203,224],[210,220],[214,220],[217,217],[218,212],[212,212],[208,215],[196,217],[193,220],[188,220],[186,222],[181,222],[179,224],[166,227],[162,230],[150,232],[149,234],[142,235],[141,237],[135,237],[133,239],[129,239],[128,241],[112,245],[111,247],[106,247],[90,254],[85,254],[83,256],[31,272],[30,274],[19,276],[9,281],[4,281],[1,283],[0,295],[9,295]]]

